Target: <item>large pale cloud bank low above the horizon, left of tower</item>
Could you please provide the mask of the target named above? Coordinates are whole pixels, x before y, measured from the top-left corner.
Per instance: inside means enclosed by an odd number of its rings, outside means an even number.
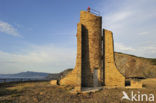
[[[0,51],[0,73],[16,73],[25,70],[60,72],[75,66],[75,50],[53,45],[25,48],[22,53]]]

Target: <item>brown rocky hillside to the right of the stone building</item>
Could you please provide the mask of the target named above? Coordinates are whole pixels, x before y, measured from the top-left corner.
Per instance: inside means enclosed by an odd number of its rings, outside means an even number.
[[[156,77],[156,58],[144,58],[115,52],[115,62],[125,77]]]

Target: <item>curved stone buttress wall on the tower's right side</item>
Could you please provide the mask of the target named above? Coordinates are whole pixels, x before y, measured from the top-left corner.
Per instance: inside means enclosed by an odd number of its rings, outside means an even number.
[[[104,37],[104,85],[125,86],[125,77],[118,71],[114,62],[114,41],[113,34],[103,29]]]

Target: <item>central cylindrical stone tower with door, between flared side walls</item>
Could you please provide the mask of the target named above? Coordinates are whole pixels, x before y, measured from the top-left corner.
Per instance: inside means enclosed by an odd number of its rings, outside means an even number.
[[[102,69],[102,18],[90,12],[81,11],[79,25],[82,27],[82,86],[92,87],[101,85]]]

